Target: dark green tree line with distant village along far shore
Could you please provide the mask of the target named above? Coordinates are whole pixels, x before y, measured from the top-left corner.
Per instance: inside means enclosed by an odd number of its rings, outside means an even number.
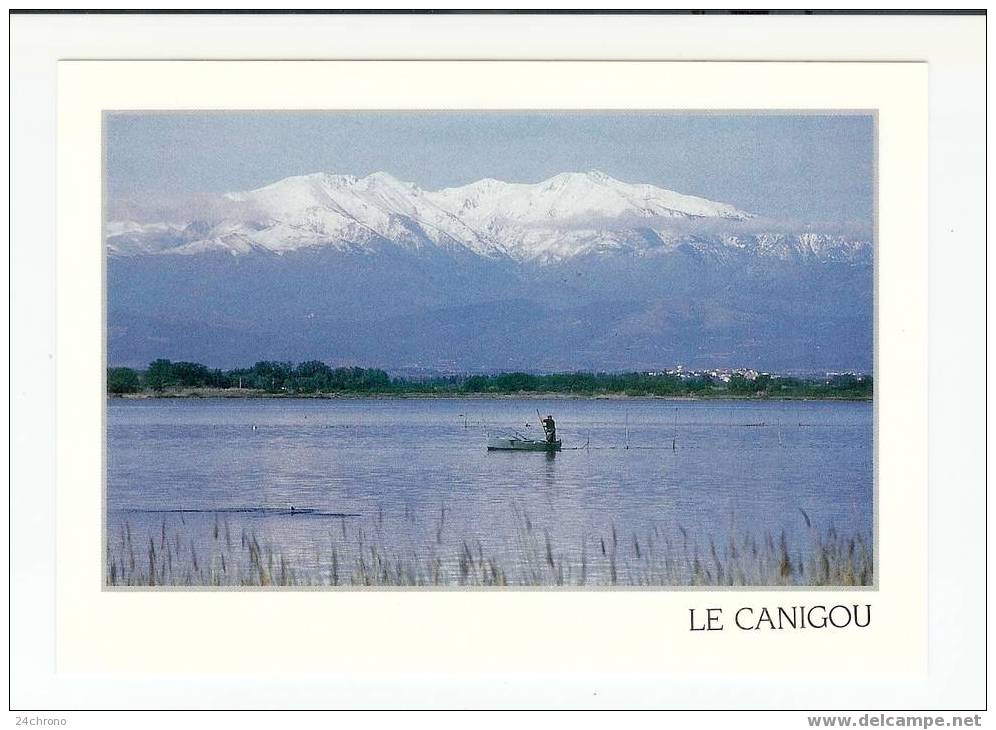
[[[159,359],[144,370],[107,369],[107,393],[124,398],[678,398],[871,400],[870,375],[800,378],[768,373],[524,372],[391,377],[377,368],[262,361],[211,369]]]

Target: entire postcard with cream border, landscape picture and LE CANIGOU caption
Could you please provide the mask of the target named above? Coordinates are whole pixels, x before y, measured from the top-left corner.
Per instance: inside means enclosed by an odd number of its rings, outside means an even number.
[[[922,66],[60,73],[66,666],[922,670]]]

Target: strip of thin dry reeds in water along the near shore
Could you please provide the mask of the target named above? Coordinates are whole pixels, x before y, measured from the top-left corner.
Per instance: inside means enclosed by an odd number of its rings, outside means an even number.
[[[874,555],[862,535],[819,529],[805,511],[803,538],[785,532],[731,531],[723,541],[681,526],[622,534],[612,525],[575,545],[518,512],[510,544],[445,540],[440,517],[433,537],[411,550],[389,547],[378,525],[330,524],[322,540],[295,553],[255,530],[214,515],[200,526],[168,521],[147,530],[124,522],[107,535],[109,587],[156,586],[479,586],[684,587],[870,586]],[[445,515],[445,508],[441,512]]]

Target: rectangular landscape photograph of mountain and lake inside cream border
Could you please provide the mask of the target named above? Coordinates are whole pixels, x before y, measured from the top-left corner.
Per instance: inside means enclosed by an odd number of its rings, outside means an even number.
[[[876,116],[103,114],[103,584],[874,587]]]

